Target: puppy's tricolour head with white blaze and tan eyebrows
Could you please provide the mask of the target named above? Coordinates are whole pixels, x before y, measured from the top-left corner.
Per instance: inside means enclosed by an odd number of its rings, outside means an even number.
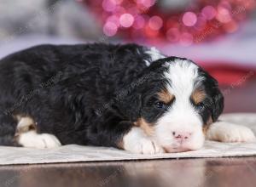
[[[224,108],[218,82],[192,61],[177,57],[154,61],[143,76],[131,93],[134,124],[167,152],[200,149],[207,127]]]

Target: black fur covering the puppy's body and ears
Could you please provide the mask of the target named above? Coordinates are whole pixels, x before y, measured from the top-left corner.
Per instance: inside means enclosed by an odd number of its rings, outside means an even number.
[[[22,115],[37,122],[38,133],[55,134],[61,144],[118,146],[139,117],[154,122],[164,113],[152,106],[166,83],[162,64],[167,59],[147,67],[146,49],[135,44],[41,45],[2,59],[0,144],[18,145],[15,116]],[[204,76],[207,94],[214,98],[217,84]],[[215,120],[223,100],[211,101],[201,114],[211,113]]]

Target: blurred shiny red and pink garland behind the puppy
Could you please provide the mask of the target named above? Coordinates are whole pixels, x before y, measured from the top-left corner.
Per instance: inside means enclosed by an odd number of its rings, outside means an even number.
[[[217,37],[238,29],[253,0],[195,0],[193,7],[183,12],[166,13],[160,0],[87,0],[90,8],[102,20],[102,30],[108,37],[122,35],[144,42],[193,42]]]

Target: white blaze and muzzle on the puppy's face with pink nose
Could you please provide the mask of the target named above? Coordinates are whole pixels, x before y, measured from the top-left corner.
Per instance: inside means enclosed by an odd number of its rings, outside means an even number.
[[[176,59],[167,63],[164,74],[170,85],[168,92],[175,96],[172,107],[156,123],[155,138],[168,152],[200,149],[204,143],[201,116],[190,102],[198,76],[198,66],[188,60]]]

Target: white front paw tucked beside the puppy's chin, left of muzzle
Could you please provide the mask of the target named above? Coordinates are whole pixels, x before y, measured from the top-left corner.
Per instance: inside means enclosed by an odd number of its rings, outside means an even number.
[[[133,127],[123,139],[124,150],[138,154],[157,154],[165,152],[154,140],[149,139],[139,127]]]

